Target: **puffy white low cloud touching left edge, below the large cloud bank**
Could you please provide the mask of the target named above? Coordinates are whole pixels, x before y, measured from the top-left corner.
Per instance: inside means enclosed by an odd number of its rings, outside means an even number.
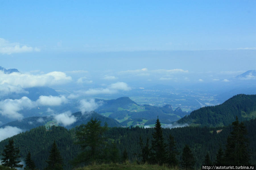
[[[36,107],[36,102],[31,101],[28,97],[22,97],[20,99],[6,99],[0,101],[0,114],[9,118],[21,119],[22,114],[18,111],[31,109]]]

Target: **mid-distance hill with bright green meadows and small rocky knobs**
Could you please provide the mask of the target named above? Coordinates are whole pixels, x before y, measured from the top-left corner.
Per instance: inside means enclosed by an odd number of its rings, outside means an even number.
[[[171,105],[163,107],[139,105],[129,97],[112,100],[95,99],[95,101],[100,103],[95,112],[116,119],[123,126],[152,125],[157,116],[162,123],[172,123],[187,114],[179,107],[173,110]]]

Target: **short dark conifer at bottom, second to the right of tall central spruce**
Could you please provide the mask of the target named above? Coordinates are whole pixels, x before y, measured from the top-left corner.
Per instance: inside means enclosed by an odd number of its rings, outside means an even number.
[[[183,148],[183,152],[181,155],[181,167],[184,169],[194,169],[195,166],[195,158],[189,148],[189,146],[186,144]]]

